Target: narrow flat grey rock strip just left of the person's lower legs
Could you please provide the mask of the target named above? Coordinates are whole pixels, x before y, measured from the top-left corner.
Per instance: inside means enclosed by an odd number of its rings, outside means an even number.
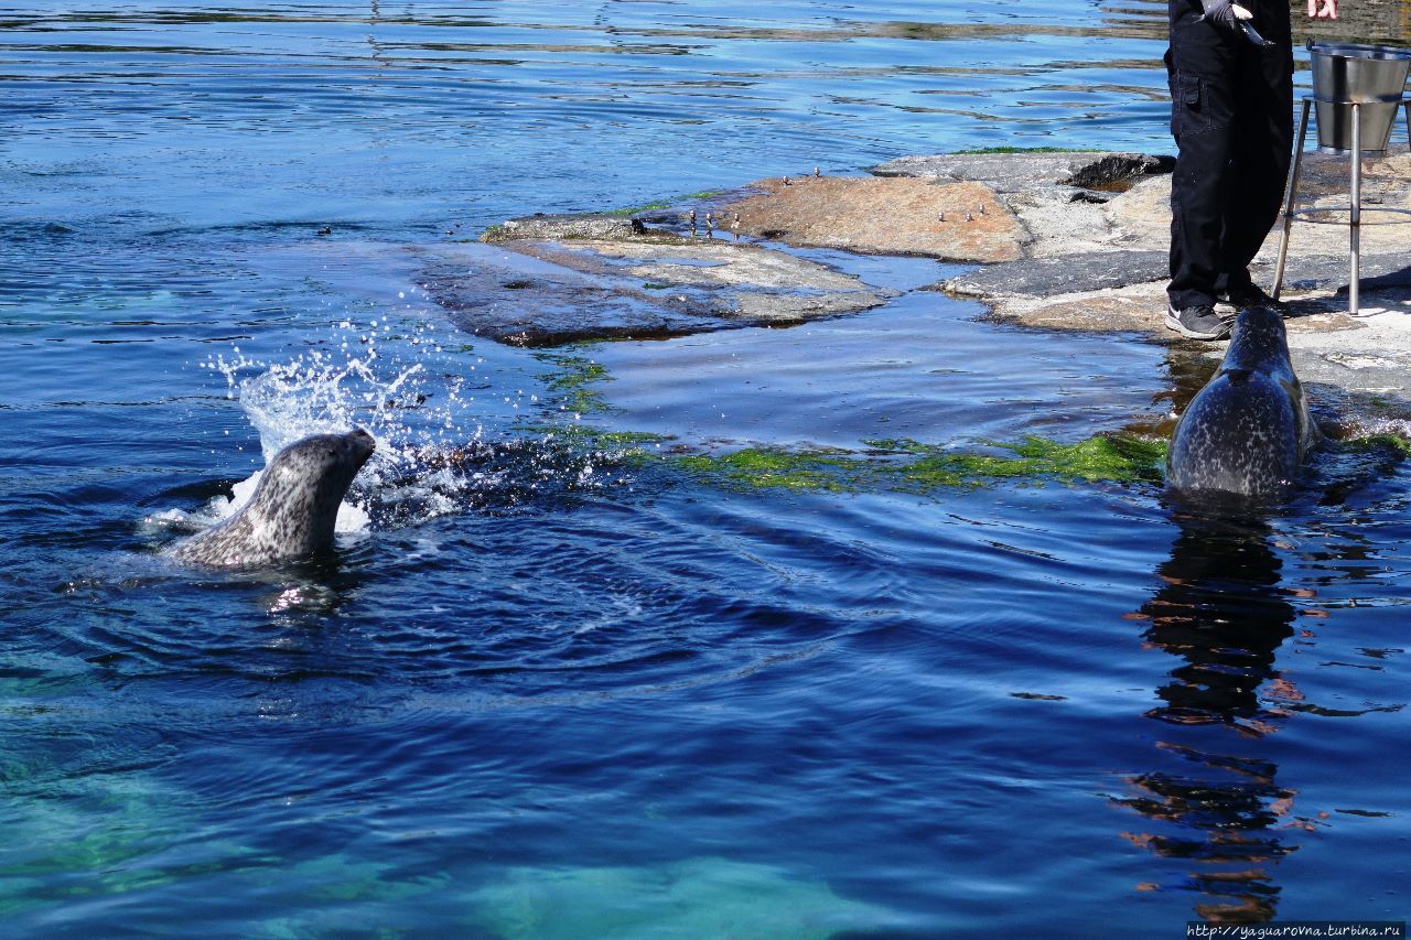
[[[1102,251],[1071,258],[992,264],[941,287],[964,296],[1057,296],[1160,281],[1170,274],[1164,251]]]

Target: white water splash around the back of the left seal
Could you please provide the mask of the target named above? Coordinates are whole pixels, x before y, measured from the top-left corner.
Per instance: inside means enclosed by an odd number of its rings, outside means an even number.
[[[260,435],[265,463],[309,435],[351,428],[373,435],[377,452],[339,510],[337,531],[344,535],[416,525],[468,508],[553,500],[617,481],[621,449],[593,446],[573,433],[576,428],[560,428],[563,415],[552,415],[557,423],[549,426],[526,426],[525,409],[552,412],[553,397],[526,391],[523,375],[512,395],[487,385],[485,360],[464,351],[459,340],[443,344],[430,323],[394,329],[374,319],[360,329],[343,320],[332,342],[288,361],[251,357],[236,346],[229,357],[213,354],[202,367],[224,377],[227,394]],[[231,498],[216,497],[196,515],[175,511],[181,518],[174,519],[168,511],[148,524],[219,522],[246,504],[258,481],[255,473],[234,484]]]

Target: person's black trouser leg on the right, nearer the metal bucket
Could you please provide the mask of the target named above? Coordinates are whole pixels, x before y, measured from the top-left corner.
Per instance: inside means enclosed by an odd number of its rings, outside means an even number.
[[[1250,285],[1249,263],[1278,220],[1294,141],[1294,51],[1287,10],[1263,4],[1257,23],[1273,47],[1242,51],[1230,192],[1225,202],[1219,277],[1222,291]]]

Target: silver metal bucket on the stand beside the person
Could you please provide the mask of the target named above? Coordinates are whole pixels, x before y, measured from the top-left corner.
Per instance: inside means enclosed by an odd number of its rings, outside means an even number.
[[[1352,150],[1352,104],[1360,104],[1362,150],[1387,148],[1398,102],[1411,72],[1411,49],[1353,42],[1309,42],[1314,99],[1318,103],[1318,145]]]

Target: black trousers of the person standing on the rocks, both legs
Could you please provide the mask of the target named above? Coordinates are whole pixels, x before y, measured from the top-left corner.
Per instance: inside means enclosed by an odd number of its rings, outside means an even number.
[[[1250,284],[1249,263],[1278,219],[1292,157],[1294,49],[1288,0],[1245,0],[1274,42],[1199,20],[1199,0],[1168,0],[1171,48],[1171,306],[1213,303]]]

